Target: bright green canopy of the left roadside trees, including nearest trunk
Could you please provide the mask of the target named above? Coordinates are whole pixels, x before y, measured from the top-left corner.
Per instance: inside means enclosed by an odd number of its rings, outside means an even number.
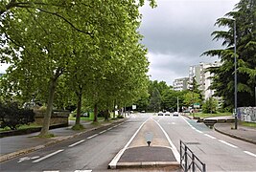
[[[1,1],[0,60],[12,64],[1,92],[47,104],[42,136],[55,95],[65,87],[100,109],[115,99],[123,105],[140,97],[149,65],[137,32],[143,5],[144,0]]]

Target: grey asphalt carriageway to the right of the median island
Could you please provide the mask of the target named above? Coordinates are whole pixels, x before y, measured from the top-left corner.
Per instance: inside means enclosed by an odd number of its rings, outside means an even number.
[[[186,142],[207,171],[256,171],[256,145],[235,140],[183,117],[157,117],[163,129],[179,149]]]

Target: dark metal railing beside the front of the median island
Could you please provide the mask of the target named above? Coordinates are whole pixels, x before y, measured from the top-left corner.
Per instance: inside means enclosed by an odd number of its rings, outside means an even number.
[[[182,140],[180,140],[180,165],[185,172],[206,172],[206,164],[200,161]]]

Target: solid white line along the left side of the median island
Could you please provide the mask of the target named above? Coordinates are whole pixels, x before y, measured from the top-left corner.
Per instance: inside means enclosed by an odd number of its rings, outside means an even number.
[[[116,169],[116,164],[117,161],[119,161],[119,159],[121,158],[121,156],[124,154],[124,152],[126,151],[126,149],[128,148],[128,145],[130,144],[130,142],[132,140],[134,140],[135,136],[139,133],[140,129],[142,128],[142,126],[151,118],[148,118],[147,120],[145,120],[140,127],[138,128],[138,130],[134,133],[134,135],[128,140],[128,143],[125,145],[125,147],[123,149],[121,149],[117,155],[114,157],[114,159],[112,161],[110,161],[110,163],[108,164],[108,167],[110,167],[110,169]]]

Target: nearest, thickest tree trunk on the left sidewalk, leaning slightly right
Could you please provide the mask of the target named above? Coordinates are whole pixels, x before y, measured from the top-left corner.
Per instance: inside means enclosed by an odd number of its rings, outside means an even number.
[[[51,78],[50,88],[49,88],[50,93],[49,93],[48,100],[47,100],[46,114],[43,118],[43,126],[42,126],[42,129],[39,134],[39,136],[41,136],[41,137],[49,134],[49,126],[50,126],[50,121],[51,121],[51,116],[52,116],[52,111],[53,111],[53,103],[54,103],[56,85],[57,85],[57,78],[55,78],[55,77]]]

